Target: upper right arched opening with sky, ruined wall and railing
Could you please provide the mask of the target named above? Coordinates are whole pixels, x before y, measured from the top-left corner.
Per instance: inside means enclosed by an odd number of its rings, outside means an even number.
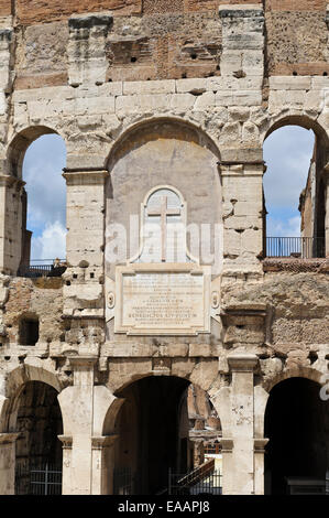
[[[266,257],[325,257],[327,137],[310,121],[282,120],[264,142]]]

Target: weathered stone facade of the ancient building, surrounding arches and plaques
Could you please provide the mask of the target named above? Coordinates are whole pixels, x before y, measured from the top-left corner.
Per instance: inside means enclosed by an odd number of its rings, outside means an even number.
[[[263,493],[268,391],[328,373],[328,260],[264,260],[262,188],[266,136],[312,129],[328,253],[326,15],[323,1],[0,0],[0,492],[13,490],[28,381],[61,392],[64,492],[99,494],[111,492],[118,393],[172,376],[218,413],[223,492]],[[15,277],[22,162],[52,132],[67,148],[67,270],[33,281]],[[221,225],[210,333],[114,333],[106,233],[160,184],[182,191],[188,222]],[[24,315],[40,319],[35,346],[19,343]]]

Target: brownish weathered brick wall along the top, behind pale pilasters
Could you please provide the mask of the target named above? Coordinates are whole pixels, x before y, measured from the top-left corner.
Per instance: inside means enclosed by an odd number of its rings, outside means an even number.
[[[105,11],[111,19],[101,36],[107,80],[220,75],[222,20],[218,8],[222,4],[234,2],[34,1],[28,8],[26,2],[18,1],[13,12],[4,2],[0,17],[12,14],[17,26],[15,88],[65,85],[67,45],[74,37],[67,20],[96,11]],[[248,7],[253,2],[239,4]],[[266,75],[328,74],[326,6],[325,1],[265,2]],[[87,35],[91,18],[88,28],[79,30],[84,45],[79,45],[78,52],[84,52],[87,45],[92,54],[92,41]],[[97,31],[91,37],[95,35],[98,40]]]

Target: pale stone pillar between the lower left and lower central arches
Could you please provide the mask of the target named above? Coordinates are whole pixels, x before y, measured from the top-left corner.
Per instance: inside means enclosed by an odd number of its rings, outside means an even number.
[[[74,386],[58,395],[64,428],[64,434],[59,435],[64,449],[63,495],[100,495],[112,490],[117,439],[113,428],[123,400],[117,399],[107,387],[95,386],[97,360],[96,355],[70,358]],[[107,416],[110,422],[103,432]]]

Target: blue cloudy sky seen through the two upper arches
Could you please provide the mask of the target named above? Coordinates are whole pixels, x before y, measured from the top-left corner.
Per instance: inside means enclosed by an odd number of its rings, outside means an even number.
[[[296,126],[281,128],[265,140],[267,236],[299,236],[299,194],[306,185],[314,140],[312,131]],[[65,258],[65,144],[57,134],[41,137],[25,153],[28,228],[33,231],[31,259]]]

